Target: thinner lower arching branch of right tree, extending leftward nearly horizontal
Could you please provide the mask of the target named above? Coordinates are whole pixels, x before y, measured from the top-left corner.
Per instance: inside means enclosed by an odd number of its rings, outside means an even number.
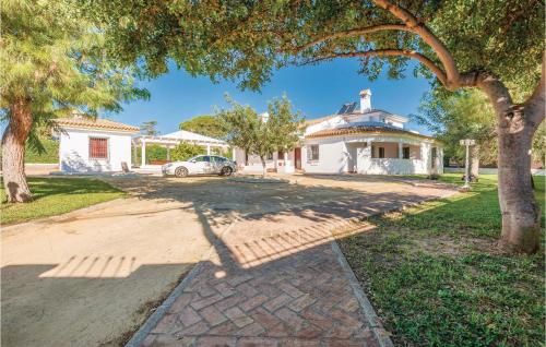
[[[418,60],[420,63],[423,63],[425,67],[430,69],[430,71],[440,80],[441,84],[446,85],[447,83],[447,76],[446,72],[443,72],[440,68],[438,68],[435,62],[427,57],[423,56],[422,53],[415,51],[415,50],[404,50],[404,49],[377,49],[377,50],[366,50],[366,51],[355,51],[355,52],[339,52],[339,53],[332,53],[330,56],[324,56],[321,58],[317,58],[310,61],[305,62],[305,64],[308,63],[314,63],[318,61],[322,60],[330,60],[334,58],[352,58],[352,57],[360,57],[360,58],[366,58],[366,57],[408,57]]]

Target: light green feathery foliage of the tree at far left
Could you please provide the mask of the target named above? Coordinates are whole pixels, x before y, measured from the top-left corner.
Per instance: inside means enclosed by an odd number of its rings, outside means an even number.
[[[17,99],[28,99],[33,130],[74,110],[91,117],[121,110],[120,101],[147,98],[134,86],[135,71],[105,56],[104,34],[72,1],[2,2],[0,50],[4,119]],[[36,133],[31,133],[31,142]]]

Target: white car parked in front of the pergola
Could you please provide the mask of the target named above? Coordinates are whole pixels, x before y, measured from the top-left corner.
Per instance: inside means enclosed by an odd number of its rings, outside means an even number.
[[[230,176],[237,170],[237,164],[219,155],[198,155],[185,161],[173,161],[162,166],[164,176],[174,175],[221,175]]]

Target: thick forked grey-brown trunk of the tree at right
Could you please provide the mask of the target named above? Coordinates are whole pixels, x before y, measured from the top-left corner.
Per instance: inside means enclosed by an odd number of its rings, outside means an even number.
[[[534,253],[539,247],[541,208],[531,183],[531,146],[544,119],[544,72],[535,93],[523,105],[514,104],[508,88],[494,75],[478,75],[477,86],[489,96],[498,118],[500,244],[513,252]]]

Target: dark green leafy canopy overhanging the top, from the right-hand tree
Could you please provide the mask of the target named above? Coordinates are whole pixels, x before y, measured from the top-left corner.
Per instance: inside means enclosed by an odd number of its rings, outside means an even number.
[[[285,64],[360,57],[361,72],[371,77],[383,67],[389,76],[403,76],[414,58],[427,68],[416,73],[436,72],[446,84],[462,84],[449,80],[478,70],[526,85],[527,92],[538,81],[544,48],[541,1],[396,4],[403,11],[395,14],[385,10],[392,10],[385,0],[90,0],[87,9],[103,21],[118,55],[126,61],[142,58],[152,75],[165,72],[173,60],[192,74],[235,79],[242,87],[259,88]],[[424,23],[435,37],[424,33]],[[451,59],[444,55],[448,50]]]

